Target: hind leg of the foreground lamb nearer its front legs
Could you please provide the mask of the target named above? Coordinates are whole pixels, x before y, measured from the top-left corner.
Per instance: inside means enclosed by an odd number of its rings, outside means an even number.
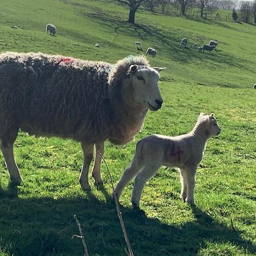
[[[147,180],[156,174],[159,166],[160,164],[147,164],[135,177],[133,195],[131,196],[131,203],[134,208],[139,208],[139,201],[141,200],[144,185]]]

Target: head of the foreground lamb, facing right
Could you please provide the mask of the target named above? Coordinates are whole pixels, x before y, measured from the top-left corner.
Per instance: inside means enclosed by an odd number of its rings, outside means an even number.
[[[205,130],[205,135],[210,138],[212,136],[217,136],[220,134],[221,129],[218,126],[216,118],[213,114],[205,115],[204,113],[200,113],[198,122],[200,122],[200,126]]]

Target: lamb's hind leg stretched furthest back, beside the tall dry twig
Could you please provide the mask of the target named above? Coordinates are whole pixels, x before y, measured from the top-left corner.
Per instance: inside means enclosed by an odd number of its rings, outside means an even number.
[[[135,174],[137,174],[141,170],[142,166],[142,159],[135,154],[131,165],[126,168],[118,184],[115,186],[114,193],[117,196],[118,200],[125,186],[130,182],[131,179],[133,179]]]

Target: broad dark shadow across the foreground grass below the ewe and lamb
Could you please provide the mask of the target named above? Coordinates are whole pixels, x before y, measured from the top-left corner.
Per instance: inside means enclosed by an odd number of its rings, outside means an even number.
[[[0,187],[0,247],[10,255],[82,255],[81,240],[72,239],[79,234],[76,214],[90,255],[126,255],[114,201],[104,188],[98,189],[106,195],[105,202],[90,192],[86,199],[22,199],[12,185]],[[121,211],[134,255],[197,255],[207,242],[231,243],[256,253],[256,246],[236,230],[197,207],[192,207],[196,221],[184,225],[163,224],[127,207]]]

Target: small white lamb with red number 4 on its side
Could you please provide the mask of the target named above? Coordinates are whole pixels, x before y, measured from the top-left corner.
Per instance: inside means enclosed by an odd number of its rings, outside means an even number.
[[[200,113],[196,125],[188,134],[176,137],[150,135],[137,143],[130,167],[126,168],[114,189],[119,200],[123,188],[137,174],[134,181],[131,203],[139,208],[142,190],[146,181],[154,176],[162,165],[179,168],[181,199],[194,204],[195,176],[197,165],[203,157],[207,140],[220,134],[216,118]]]

